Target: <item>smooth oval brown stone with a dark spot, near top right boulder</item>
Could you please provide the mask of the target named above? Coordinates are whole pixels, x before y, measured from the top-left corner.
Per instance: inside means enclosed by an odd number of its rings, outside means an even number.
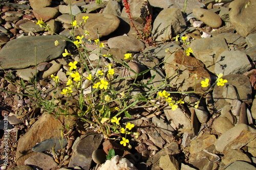
[[[194,8],[193,14],[196,18],[203,21],[209,27],[219,28],[222,25],[222,20],[220,16],[210,10]]]

